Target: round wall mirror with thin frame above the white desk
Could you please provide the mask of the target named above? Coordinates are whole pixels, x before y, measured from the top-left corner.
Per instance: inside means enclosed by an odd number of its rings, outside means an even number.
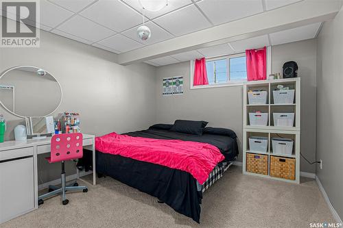
[[[19,117],[43,117],[62,101],[60,83],[36,66],[15,66],[0,75],[0,103]]]

